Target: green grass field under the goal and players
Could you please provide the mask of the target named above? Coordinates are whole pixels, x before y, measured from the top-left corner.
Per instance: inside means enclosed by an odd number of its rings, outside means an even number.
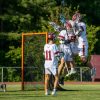
[[[63,86],[66,91],[57,91],[56,96],[45,96],[44,91],[21,91],[14,86],[6,92],[0,92],[0,100],[100,100],[100,84],[97,85],[69,85]]]

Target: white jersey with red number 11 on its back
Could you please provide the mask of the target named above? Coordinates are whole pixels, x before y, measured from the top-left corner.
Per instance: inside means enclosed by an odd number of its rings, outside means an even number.
[[[56,44],[45,44],[44,55],[45,55],[45,68],[56,68],[58,66],[58,60],[56,56],[59,54],[58,47]]]

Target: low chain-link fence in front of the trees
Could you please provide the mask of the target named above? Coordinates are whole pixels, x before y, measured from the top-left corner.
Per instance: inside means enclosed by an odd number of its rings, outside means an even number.
[[[39,68],[27,67],[27,76],[25,79],[29,78],[29,82],[43,80],[41,77],[43,75],[43,70]],[[41,75],[42,73],[42,75]],[[33,80],[34,78],[34,80]],[[92,81],[91,80],[91,69],[89,67],[76,67],[76,74],[66,77],[66,81]],[[28,81],[28,79],[27,79]],[[21,67],[0,67],[0,82],[21,82]]]

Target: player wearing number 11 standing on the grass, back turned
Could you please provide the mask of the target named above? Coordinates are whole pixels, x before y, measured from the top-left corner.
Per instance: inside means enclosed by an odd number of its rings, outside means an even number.
[[[52,95],[55,95],[56,88],[58,85],[58,57],[59,51],[57,45],[54,43],[55,35],[53,33],[48,34],[48,43],[44,46],[45,55],[45,95],[49,94],[49,80],[50,75],[53,74],[55,77],[54,88]]]

